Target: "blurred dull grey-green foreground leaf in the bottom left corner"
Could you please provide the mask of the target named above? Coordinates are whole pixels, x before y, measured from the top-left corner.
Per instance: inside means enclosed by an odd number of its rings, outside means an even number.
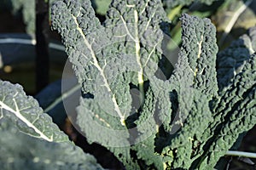
[[[70,142],[35,139],[14,126],[7,117],[0,120],[0,164],[8,169],[100,170],[96,159]]]

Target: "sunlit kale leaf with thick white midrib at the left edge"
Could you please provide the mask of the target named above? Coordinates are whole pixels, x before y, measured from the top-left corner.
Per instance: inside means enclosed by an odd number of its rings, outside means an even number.
[[[8,117],[16,124],[21,132],[49,142],[68,141],[52,122],[50,116],[39,107],[38,101],[26,96],[18,84],[0,80],[0,116]]]

